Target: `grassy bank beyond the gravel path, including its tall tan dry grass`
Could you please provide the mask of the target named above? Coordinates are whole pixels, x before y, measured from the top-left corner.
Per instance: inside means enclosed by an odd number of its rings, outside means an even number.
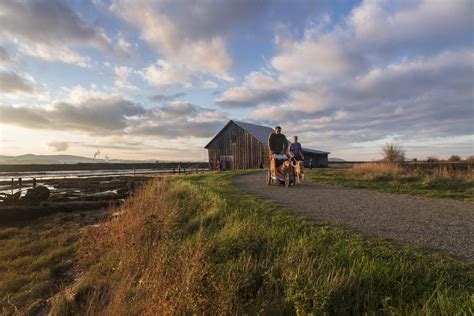
[[[306,177],[321,184],[339,187],[474,202],[473,169],[450,170],[444,166],[407,170],[394,164],[362,163],[355,164],[352,168],[307,170]]]

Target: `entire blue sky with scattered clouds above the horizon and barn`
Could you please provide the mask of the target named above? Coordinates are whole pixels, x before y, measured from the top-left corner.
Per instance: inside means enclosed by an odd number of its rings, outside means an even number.
[[[474,154],[474,1],[0,1],[0,154],[207,160],[230,119],[346,160]]]

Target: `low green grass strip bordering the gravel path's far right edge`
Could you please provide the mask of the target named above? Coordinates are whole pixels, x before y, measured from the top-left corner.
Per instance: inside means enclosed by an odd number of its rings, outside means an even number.
[[[348,168],[312,169],[305,173],[306,179],[326,185],[474,202],[472,180],[447,179],[429,175],[385,175],[365,179],[351,174]]]

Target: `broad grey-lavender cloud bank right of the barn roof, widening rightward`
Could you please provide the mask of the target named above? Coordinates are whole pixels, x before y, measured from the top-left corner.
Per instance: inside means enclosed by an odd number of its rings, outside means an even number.
[[[325,135],[323,143],[470,135],[472,58],[472,52],[445,52],[389,64],[342,87],[292,92],[288,103],[257,108],[249,117]]]

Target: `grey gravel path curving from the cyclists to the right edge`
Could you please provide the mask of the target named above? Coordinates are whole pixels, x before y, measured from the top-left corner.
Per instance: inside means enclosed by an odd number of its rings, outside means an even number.
[[[474,259],[474,204],[310,182],[287,189],[278,184],[267,186],[264,179],[263,173],[255,173],[233,181],[246,192],[325,224]]]

